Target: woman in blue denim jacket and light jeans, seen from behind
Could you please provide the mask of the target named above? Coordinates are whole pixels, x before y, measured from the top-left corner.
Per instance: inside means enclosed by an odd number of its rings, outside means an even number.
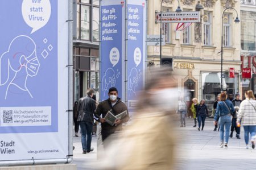
[[[217,104],[216,114],[214,116],[215,125],[217,125],[217,121],[220,121],[220,147],[224,148],[228,148],[232,114],[235,111],[232,101],[227,98],[228,95],[226,94],[226,92],[221,92],[221,101],[219,101]]]

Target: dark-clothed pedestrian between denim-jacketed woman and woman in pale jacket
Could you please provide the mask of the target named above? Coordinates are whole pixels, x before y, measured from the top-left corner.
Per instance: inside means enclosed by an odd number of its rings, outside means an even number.
[[[237,127],[237,112],[239,110],[240,104],[241,104],[241,99],[240,99],[240,94],[236,93],[236,98],[233,99],[232,103],[234,105],[234,109],[236,110],[232,116],[232,124],[231,124],[231,132],[230,132],[230,138],[233,138],[233,132],[236,130],[236,138],[240,139],[240,127]]]

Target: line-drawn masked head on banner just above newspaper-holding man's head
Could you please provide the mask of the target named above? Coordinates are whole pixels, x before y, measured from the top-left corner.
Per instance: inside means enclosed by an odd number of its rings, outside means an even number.
[[[115,72],[112,68],[108,68],[105,75],[102,77],[102,90],[104,91],[104,96],[106,92],[108,93],[109,88],[115,86]]]

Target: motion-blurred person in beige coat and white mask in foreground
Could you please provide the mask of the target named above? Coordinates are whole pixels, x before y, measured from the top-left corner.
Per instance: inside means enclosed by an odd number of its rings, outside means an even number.
[[[131,126],[115,142],[111,140],[102,169],[174,169],[176,137],[172,115],[177,98],[176,81],[170,72],[152,72],[138,98]]]

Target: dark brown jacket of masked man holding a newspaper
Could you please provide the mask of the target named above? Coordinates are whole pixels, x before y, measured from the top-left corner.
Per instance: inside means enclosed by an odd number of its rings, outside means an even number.
[[[112,107],[112,103],[111,103],[110,99],[106,99],[98,104],[98,107],[94,113],[94,116],[96,117],[97,121],[100,120],[101,114],[102,114],[102,118],[104,118],[106,116],[106,114],[108,113],[108,111],[112,111],[112,113],[114,115],[118,115],[118,114],[122,113],[123,111],[127,110],[126,104],[124,102],[122,102],[120,98],[117,98],[117,99],[118,99],[118,101],[117,101],[117,103],[115,103],[115,105],[113,107]],[[129,121],[129,119],[130,119],[130,117],[129,117],[129,113],[127,110],[127,115],[121,119],[121,123],[119,125],[111,126],[111,125],[109,125],[109,123],[104,122],[104,123],[101,123],[102,130],[109,130],[109,131],[121,130],[122,123]]]

